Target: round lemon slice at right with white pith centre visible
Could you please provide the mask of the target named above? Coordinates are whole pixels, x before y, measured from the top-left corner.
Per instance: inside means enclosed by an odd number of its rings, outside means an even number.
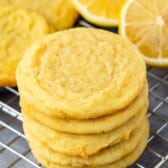
[[[168,67],[168,0],[128,0],[119,32],[137,46],[147,64]]]

